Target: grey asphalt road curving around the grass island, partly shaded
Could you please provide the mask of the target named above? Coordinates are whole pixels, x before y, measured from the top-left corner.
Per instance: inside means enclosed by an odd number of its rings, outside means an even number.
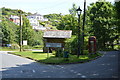
[[[16,55],[2,55],[2,78],[118,78],[119,51],[102,52],[96,60],[82,64],[46,65]]]

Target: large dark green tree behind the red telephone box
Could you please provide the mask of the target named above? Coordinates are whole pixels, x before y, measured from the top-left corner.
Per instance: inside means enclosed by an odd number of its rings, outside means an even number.
[[[87,15],[91,28],[89,32],[96,36],[98,48],[108,47],[107,43],[114,41],[116,31],[113,5],[110,2],[92,3],[88,7]]]

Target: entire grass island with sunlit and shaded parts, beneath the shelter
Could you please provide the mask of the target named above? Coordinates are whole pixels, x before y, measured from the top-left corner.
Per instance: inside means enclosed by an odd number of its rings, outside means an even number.
[[[47,53],[43,52],[31,52],[31,51],[25,51],[25,52],[14,52],[13,54],[20,55],[22,57],[27,57],[34,59],[41,63],[47,63],[47,64],[65,64],[65,63],[84,63],[88,62],[89,60],[94,59],[95,57],[101,56],[100,53],[94,54],[94,55],[80,55],[79,58],[77,58],[76,55],[70,55],[69,58],[63,58],[63,57],[55,57],[52,53],[49,53],[49,57],[47,57]]]

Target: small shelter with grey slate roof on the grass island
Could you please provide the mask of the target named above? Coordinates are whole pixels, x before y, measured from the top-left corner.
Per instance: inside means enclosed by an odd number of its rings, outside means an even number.
[[[47,52],[48,48],[61,47],[64,48],[65,39],[71,38],[71,30],[46,30],[44,32],[44,48],[43,51]]]

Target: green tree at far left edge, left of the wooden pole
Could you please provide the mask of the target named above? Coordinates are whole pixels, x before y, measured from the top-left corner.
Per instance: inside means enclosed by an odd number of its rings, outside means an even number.
[[[2,42],[4,44],[11,44],[16,42],[16,30],[18,26],[9,21],[6,17],[2,17],[2,22],[0,22],[0,26],[2,29]]]

